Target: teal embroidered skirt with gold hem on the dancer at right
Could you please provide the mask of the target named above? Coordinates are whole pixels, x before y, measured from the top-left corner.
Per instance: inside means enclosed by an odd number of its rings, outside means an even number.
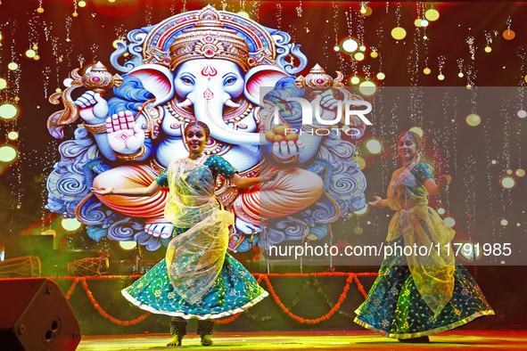
[[[383,261],[366,301],[355,311],[355,322],[388,338],[411,339],[449,331],[482,315],[494,314],[472,275],[456,265],[452,298],[434,318],[405,262],[406,257]]]

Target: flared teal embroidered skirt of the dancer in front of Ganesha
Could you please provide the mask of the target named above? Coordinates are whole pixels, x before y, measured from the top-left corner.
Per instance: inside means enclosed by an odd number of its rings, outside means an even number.
[[[193,305],[174,291],[164,258],[121,293],[146,311],[185,319],[216,319],[238,314],[268,296],[251,273],[227,253],[214,285]]]

